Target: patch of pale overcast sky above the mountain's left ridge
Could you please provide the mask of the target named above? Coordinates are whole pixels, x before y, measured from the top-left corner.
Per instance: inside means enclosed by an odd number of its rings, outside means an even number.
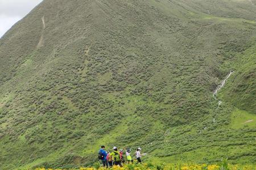
[[[43,0],[0,0],[0,37]]]

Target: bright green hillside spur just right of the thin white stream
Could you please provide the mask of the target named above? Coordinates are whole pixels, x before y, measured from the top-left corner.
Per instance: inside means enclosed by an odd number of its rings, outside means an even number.
[[[237,108],[252,114],[256,114],[255,53],[256,46],[252,45],[237,56],[236,73],[223,94],[226,101],[230,101]]]

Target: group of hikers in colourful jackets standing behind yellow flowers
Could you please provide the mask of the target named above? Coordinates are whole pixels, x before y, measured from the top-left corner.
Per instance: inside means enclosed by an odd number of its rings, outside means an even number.
[[[113,165],[119,165],[122,167],[122,164],[126,163],[124,152],[126,150],[126,160],[127,163],[133,163],[133,158],[131,155],[131,149],[120,149],[118,151],[117,147],[113,147],[113,151],[106,151],[105,146],[101,146],[100,151],[98,152],[98,159],[101,160],[103,167],[112,167]],[[141,148],[137,148],[137,151],[135,153],[138,163],[141,163],[141,157],[144,154],[141,154]]]

